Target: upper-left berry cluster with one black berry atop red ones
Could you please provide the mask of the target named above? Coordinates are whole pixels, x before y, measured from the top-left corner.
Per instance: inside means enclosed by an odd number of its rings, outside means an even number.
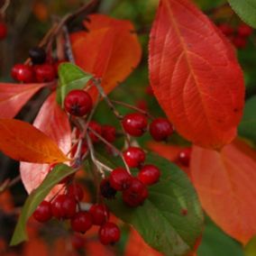
[[[21,83],[45,83],[57,78],[59,64],[63,61],[50,63],[47,61],[47,54],[41,47],[34,47],[29,50],[29,57],[32,65],[15,64],[11,75],[14,80]]]

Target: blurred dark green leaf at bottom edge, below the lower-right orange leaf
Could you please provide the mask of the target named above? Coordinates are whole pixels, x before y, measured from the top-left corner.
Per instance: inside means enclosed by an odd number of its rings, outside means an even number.
[[[202,242],[197,256],[243,256],[242,245],[220,230],[211,220],[206,219]]]

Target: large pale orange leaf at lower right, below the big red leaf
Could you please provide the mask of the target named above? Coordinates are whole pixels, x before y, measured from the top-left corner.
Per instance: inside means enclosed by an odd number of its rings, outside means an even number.
[[[256,233],[256,152],[235,141],[222,151],[195,146],[192,181],[206,213],[242,243]]]

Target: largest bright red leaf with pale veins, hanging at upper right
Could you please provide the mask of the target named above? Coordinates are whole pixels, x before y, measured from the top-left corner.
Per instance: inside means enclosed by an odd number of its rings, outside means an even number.
[[[206,148],[233,140],[242,117],[242,70],[233,47],[187,0],[160,0],[151,30],[151,87],[178,133]]]

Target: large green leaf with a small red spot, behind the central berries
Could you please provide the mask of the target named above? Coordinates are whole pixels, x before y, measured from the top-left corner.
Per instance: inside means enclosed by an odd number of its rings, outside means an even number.
[[[106,160],[108,165],[109,160]],[[122,163],[114,161],[114,166]],[[132,224],[144,241],[157,251],[164,255],[186,255],[193,250],[203,226],[202,209],[195,189],[187,175],[169,160],[148,153],[147,162],[160,168],[161,178],[159,183],[149,187],[150,196],[143,206],[125,206],[121,193],[116,199],[106,200],[105,203],[114,215]]]

